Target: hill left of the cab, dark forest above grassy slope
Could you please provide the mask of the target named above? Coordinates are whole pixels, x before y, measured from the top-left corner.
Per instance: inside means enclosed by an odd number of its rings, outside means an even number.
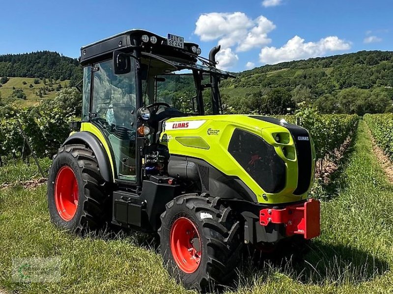
[[[82,67],[76,58],[57,52],[37,51],[24,54],[0,55],[0,84],[3,104],[38,105],[50,99],[66,86],[75,86],[82,79]]]

